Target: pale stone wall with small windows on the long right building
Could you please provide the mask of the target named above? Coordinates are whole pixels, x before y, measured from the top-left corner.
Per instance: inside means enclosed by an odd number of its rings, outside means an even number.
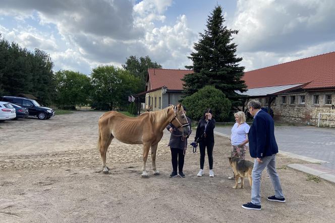
[[[319,103],[314,104],[315,96],[318,95]],[[331,95],[331,103],[326,103],[326,95]],[[291,96],[295,101],[291,102]],[[283,101],[286,97],[286,101]],[[301,97],[305,97],[305,102],[301,103]],[[267,106],[267,98],[256,98],[263,106]],[[286,102],[286,103],[283,103]],[[315,99],[315,102],[317,100]],[[271,104],[274,120],[284,122],[301,123],[305,125],[315,125],[318,123],[319,113],[330,113],[334,115],[321,115],[320,126],[335,128],[335,91],[315,91],[304,93],[292,93],[278,95]]]

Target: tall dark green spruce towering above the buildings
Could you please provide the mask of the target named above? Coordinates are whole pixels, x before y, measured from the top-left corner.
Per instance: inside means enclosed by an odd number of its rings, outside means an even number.
[[[246,85],[241,78],[244,75],[244,67],[239,66],[242,58],[236,56],[237,45],[232,42],[233,34],[238,30],[228,29],[224,26],[222,8],[216,6],[207,19],[207,29],[200,33],[200,39],[194,43],[195,52],[188,57],[193,66],[194,74],[184,77],[184,90],[191,95],[205,85],[213,85],[221,90],[233,103],[233,106],[241,104],[241,96],[235,91],[246,91]]]

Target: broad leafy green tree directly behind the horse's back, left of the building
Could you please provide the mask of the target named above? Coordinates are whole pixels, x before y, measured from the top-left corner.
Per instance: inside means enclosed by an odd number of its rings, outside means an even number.
[[[127,109],[128,96],[138,92],[140,78],[114,66],[99,66],[91,73],[92,107],[99,110]]]

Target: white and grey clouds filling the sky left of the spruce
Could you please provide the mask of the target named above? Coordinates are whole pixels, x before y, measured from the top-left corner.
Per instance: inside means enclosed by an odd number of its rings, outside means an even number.
[[[6,36],[23,47],[47,51],[55,68],[60,69],[71,67],[89,73],[86,69],[92,66],[121,65],[130,55],[149,55],[163,67],[184,68],[190,64],[187,56],[197,39],[197,34],[188,28],[185,15],[171,26],[164,24],[172,0],[144,0],[137,4],[133,0],[2,2],[0,15],[12,16],[21,24],[8,30]],[[49,30],[19,31],[29,20],[37,21],[39,28],[57,28],[61,39],[54,39]]]

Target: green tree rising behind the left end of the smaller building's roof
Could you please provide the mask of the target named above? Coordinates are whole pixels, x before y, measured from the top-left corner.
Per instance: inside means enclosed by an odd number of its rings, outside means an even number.
[[[126,63],[122,65],[122,67],[125,70],[128,70],[135,77],[140,78],[140,88],[138,89],[139,91],[135,93],[139,93],[145,90],[148,68],[162,68],[162,66],[157,62],[151,62],[151,59],[148,55],[144,58],[137,58],[136,56],[131,55],[129,58],[127,58]]]

